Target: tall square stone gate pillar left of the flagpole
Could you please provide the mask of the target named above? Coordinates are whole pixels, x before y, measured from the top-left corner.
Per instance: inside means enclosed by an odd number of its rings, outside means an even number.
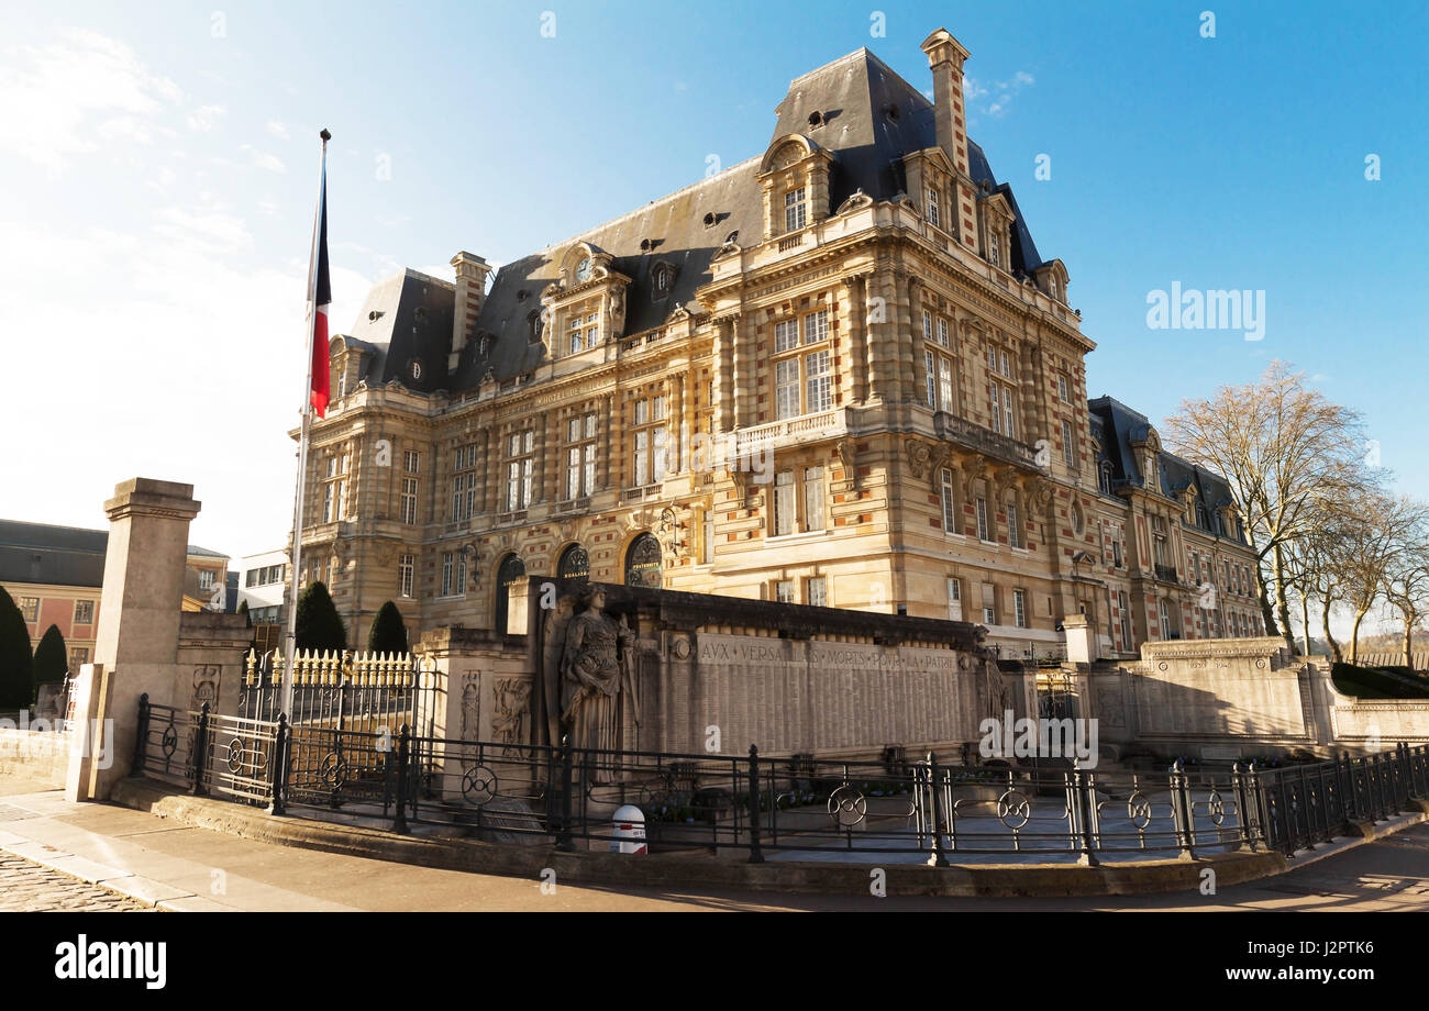
[[[176,697],[174,671],[189,523],[199,514],[193,486],[136,477],[114,487],[104,511],[109,550],[94,663],[74,714],[70,801],[106,800],[129,774],[141,694],[156,705],[189,704],[187,694]]]

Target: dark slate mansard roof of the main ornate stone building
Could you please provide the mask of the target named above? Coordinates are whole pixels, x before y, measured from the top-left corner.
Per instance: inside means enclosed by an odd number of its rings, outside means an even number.
[[[809,117],[817,111],[819,126]],[[809,71],[789,84],[776,107],[770,143],[800,133],[833,154],[829,188],[830,210],[862,190],[875,200],[890,200],[906,187],[902,159],[936,146],[932,103],[867,49]],[[454,287],[413,270],[373,287],[352,338],[373,350],[364,374],[369,386],[399,380],[413,390],[456,393],[474,388],[490,368],[497,380],[530,371],[543,348],[533,341],[532,317],[540,313],[540,296],[559,276],[559,257],[576,241],[587,241],[613,257],[612,270],[632,278],[626,291],[626,334],[662,326],[677,307],[696,308],[694,291],[710,280],[710,260],[719,247],[735,241],[752,246],[763,237],[762,191],[756,173],[765,151],[730,168],[653,200],[629,214],[572,236],[544,250],[503,264],[492,280],[476,321],[479,340],[467,346],[456,370],[447,374]],[[1016,197],[999,184],[977,144],[969,141],[969,171],[987,193],[1002,193],[1016,214],[1013,273],[1042,266]],[[713,220],[706,224],[706,216]],[[647,243],[647,248],[642,248]],[[676,268],[667,296],[653,297],[652,276],[659,263]],[[424,323],[416,311],[424,310]],[[369,314],[382,316],[370,320]],[[482,354],[480,337],[490,337]],[[423,378],[412,380],[407,363],[419,358]]]

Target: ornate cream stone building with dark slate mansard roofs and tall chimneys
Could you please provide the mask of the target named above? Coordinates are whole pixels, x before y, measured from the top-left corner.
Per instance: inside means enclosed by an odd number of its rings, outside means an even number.
[[[1259,634],[1223,483],[1087,401],[1066,267],[965,134],[966,50],[923,49],[932,103],[860,50],[749,161],[489,288],[470,253],[374,288],[306,474],[302,577],[354,644],[386,600],[414,638],[519,631],[536,574],[966,618],[1012,653],[1079,614],[1102,655]]]

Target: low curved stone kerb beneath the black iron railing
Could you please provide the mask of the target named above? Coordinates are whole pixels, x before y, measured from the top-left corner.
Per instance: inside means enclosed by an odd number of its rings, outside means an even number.
[[[887,895],[1079,897],[1195,891],[1203,871],[1216,888],[1282,874],[1279,852],[1230,852],[1195,860],[1147,860],[1082,867],[1076,864],[965,864],[927,867],[777,861],[750,864],[707,855],[560,852],[552,847],[502,845],[477,840],[439,840],[274,817],[233,801],[194,797],[150,780],[123,780],[111,801],[186,825],[210,828],[279,845],[340,852],[442,870],[543,880],[554,872],[567,884],[643,888],[720,888],[785,894],[869,894],[870,875],[885,872]]]

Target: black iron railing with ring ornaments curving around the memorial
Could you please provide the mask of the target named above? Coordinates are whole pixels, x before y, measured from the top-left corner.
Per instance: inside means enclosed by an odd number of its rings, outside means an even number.
[[[513,745],[187,713],[140,700],[133,774],[199,794],[342,811],[399,833],[559,848],[629,842],[766,858],[952,862],[1279,850],[1295,854],[1429,798],[1429,745],[1283,768],[1159,773],[946,765],[936,755],[672,754]],[[624,820],[624,814],[620,815]],[[1055,857],[1059,855],[1059,857]]]

